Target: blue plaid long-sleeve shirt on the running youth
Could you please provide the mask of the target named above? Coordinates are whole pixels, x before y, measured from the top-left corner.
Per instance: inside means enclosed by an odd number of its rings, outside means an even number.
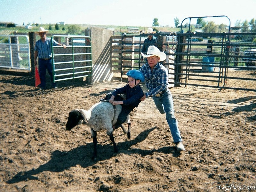
[[[146,98],[153,97],[168,88],[168,70],[161,63],[157,63],[153,71],[146,63],[140,68],[140,71],[145,77],[145,84],[149,90],[148,93],[145,93]]]

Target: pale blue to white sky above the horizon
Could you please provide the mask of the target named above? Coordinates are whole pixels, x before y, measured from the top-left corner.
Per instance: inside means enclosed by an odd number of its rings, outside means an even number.
[[[226,15],[232,27],[237,20],[256,19],[256,0],[0,0],[0,6],[0,21],[20,25],[64,21],[66,24],[149,27],[153,19],[158,18],[160,25],[172,27],[176,17],[181,23],[187,17]],[[226,17],[212,20],[216,24],[229,24]]]

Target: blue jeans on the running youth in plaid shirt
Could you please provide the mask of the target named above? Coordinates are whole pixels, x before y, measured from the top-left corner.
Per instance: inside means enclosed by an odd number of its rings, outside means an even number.
[[[174,116],[172,94],[168,89],[160,97],[153,97],[157,109],[161,114],[166,114],[166,120],[172,133],[174,143],[182,141],[180,136],[180,130],[178,128],[178,122]]]

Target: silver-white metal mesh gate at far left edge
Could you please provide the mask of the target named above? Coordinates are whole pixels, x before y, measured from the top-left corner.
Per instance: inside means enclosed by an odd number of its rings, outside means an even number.
[[[0,35],[0,68],[31,71],[27,35]]]

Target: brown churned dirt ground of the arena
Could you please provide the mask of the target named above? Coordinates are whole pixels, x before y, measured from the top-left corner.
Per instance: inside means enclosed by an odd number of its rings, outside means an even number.
[[[89,109],[125,83],[71,81],[43,92],[34,83],[32,77],[0,75],[1,191],[256,187],[255,92],[171,88],[184,152],[174,148],[165,115],[149,98],[131,113],[130,140],[120,128],[113,132],[118,153],[106,131],[98,132],[98,159],[93,161],[89,127],[66,131],[68,113]]]

